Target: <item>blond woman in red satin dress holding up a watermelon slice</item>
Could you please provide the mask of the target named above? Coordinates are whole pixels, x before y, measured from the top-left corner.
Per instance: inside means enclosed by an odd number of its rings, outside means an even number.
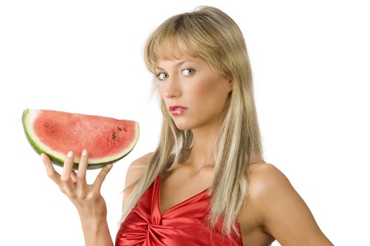
[[[163,123],[154,153],[130,165],[116,245],[333,245],[286,176],[263,160],[242,32],[212,7],[175,15],[145,46]],[[86,245],[113,245],[100,195],[110,167],[86,184],[42,155],[79,211]]]

